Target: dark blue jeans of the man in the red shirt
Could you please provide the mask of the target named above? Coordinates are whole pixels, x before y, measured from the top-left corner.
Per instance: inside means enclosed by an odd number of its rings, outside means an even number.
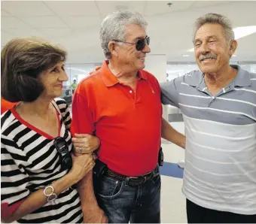
[[[160,223],[160,174],[140,186],[129,186],[126,180],[93,172],[93,185],[109,223]]]

